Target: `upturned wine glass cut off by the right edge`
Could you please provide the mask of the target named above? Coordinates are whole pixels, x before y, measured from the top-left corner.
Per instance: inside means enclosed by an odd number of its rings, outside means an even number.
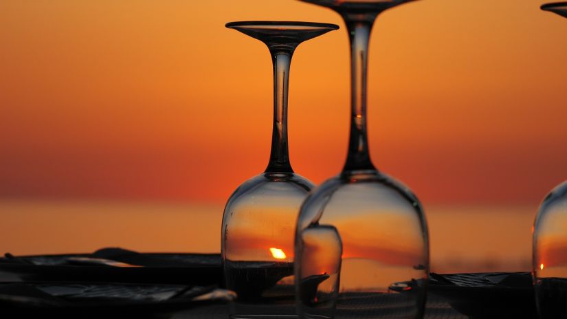
[[[542,10],[567,18],[567,2]],[[540,318],[567,317],[567,181],[545,197],[533,225],[533,284]]]

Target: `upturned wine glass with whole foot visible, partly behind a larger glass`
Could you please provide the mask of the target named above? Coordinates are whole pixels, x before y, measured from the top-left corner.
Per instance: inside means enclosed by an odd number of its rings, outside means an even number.
[[[226,27],[265,43],[274,64],[274,129],[268,166],[236,188],[223,214],[225,283],[238,294],[230,304],[230,318],[295,318],[293,234],[299,207],[313,184],[293,173],[289,163],[289,67],[300,43],[339,27],[281,21],[232,22]]]

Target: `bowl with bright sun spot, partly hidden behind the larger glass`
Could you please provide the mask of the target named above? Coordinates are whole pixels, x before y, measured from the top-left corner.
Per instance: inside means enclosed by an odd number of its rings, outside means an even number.
[[[239,186],[223,219],[227,287],[241,300],[261,295],[293,275],[293,231],[298,208],[313,188],[295,173],[262,173]]]

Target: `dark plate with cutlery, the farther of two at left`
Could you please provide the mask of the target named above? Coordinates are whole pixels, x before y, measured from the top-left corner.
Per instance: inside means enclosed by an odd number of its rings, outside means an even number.
[[[25,281],[223,285],[220,254],[142,254],[120,248],[93,254],[6,254],[0,271]]]

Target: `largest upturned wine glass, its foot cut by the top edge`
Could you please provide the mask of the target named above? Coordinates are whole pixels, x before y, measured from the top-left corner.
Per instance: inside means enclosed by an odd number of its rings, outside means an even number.
[[[370,161],[368,41],[375,18],[409,0],[304,0],[343,17],[351,40],[351,133],[340,175],[313,189],[296,230],[301,318],[420,318],[429,268],[427,223],[403,184]],[[339,278],[340,277],[340,278]]]

